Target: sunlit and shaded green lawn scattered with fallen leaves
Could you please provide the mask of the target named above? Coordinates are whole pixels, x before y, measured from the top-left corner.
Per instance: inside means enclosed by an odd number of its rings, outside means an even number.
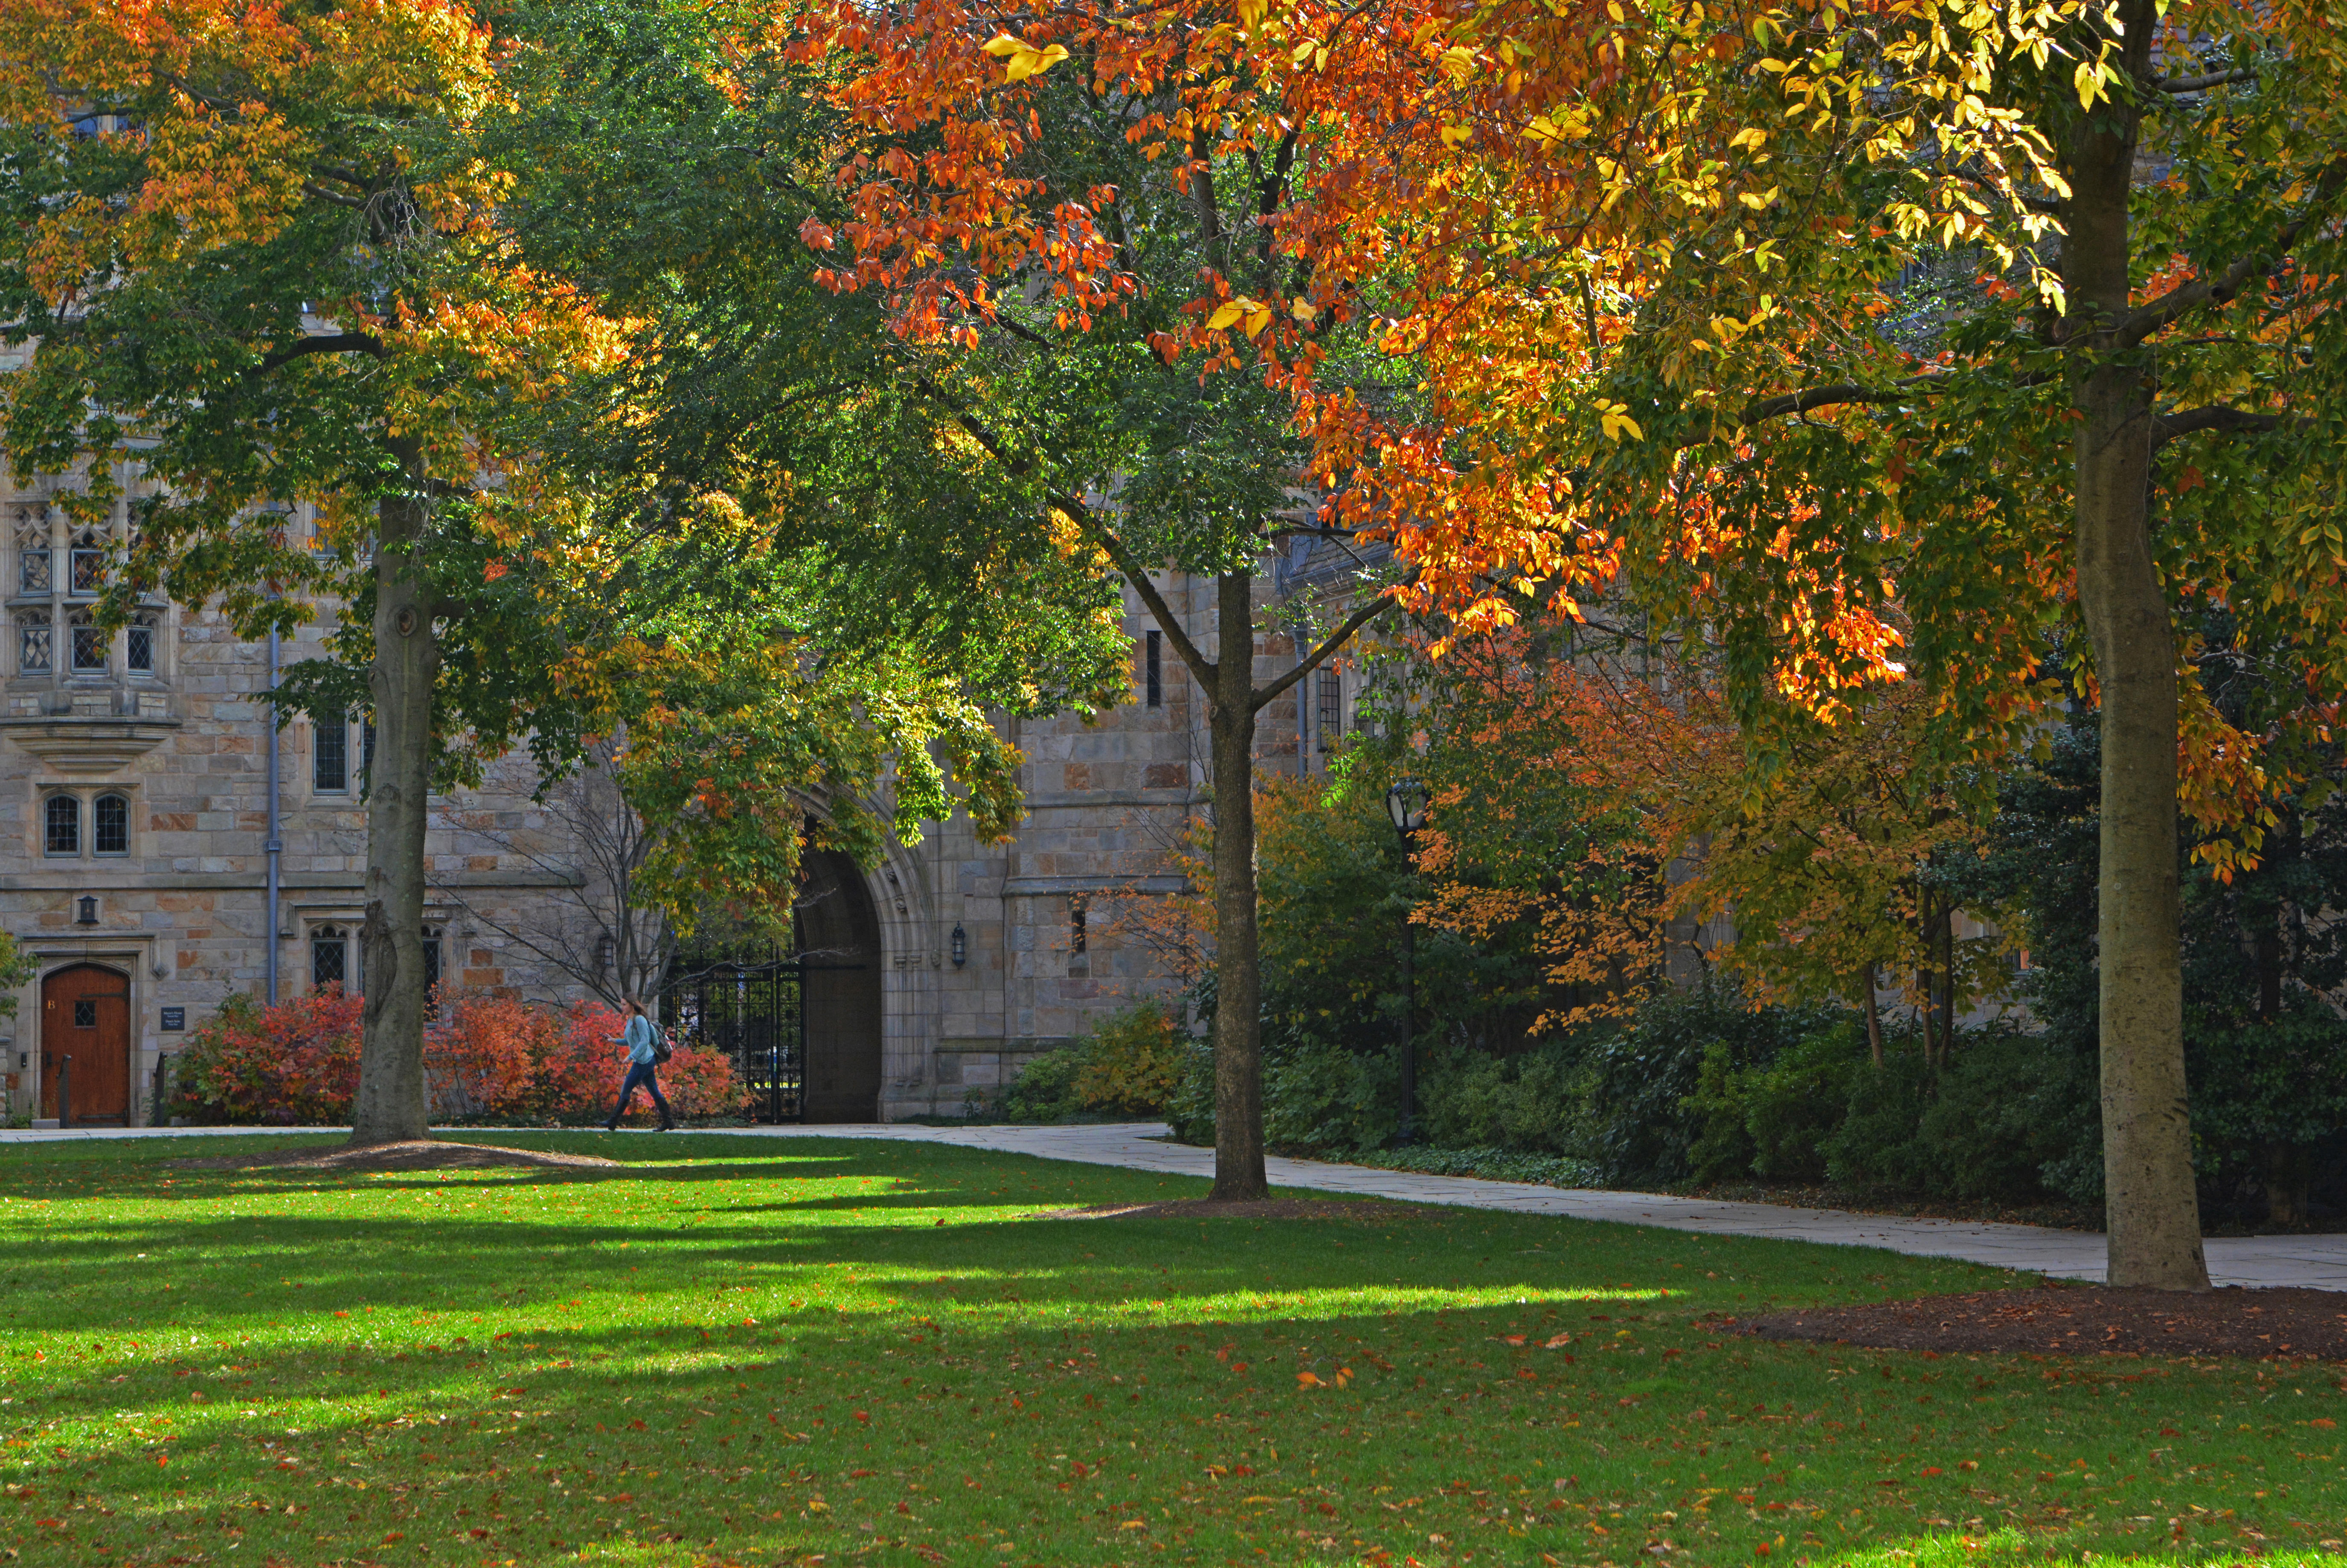
[[[2009,1275],[1455,1209],[1051,1221],[1199,1183],[498,1138],[629,1167],[0,1150],[7,1561],[2347,1563],[2347,1368],[1716,1324]]]

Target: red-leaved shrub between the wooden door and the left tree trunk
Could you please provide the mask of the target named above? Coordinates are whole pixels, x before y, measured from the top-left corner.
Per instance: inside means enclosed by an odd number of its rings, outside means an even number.
[[[232,995],[171,1061],[176,1115],[347,1122],[359,1091],[359,998],[324,986],[277,1007]]]

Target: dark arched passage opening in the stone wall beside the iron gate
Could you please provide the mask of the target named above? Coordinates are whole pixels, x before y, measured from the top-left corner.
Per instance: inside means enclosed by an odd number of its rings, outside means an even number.
[[[864,871],[838,850],[798,866],[798,958],[805,965],[805,1120],[880,1120],[880,915]]]

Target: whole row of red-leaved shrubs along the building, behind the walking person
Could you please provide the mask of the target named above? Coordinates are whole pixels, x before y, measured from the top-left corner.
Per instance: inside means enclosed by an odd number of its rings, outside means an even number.
[[[218,1122],[347,1122],[359,1087],[359,998],[340,986],[261,1007],[230,998],[174,1061],[176,1115]],[[627,1054],[620,1014],[566,1012],[455,991],[425,1030],[432,1120],[580,1122],[610,1115]],[[721,1052],[678,1049],[660,1068],[678,1117],[739,1115],[749,1089]],[[648,1108],[648,1096],[636,1096]]]

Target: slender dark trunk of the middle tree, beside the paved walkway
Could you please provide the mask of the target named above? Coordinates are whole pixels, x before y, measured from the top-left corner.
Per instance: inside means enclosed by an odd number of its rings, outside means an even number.
[[[1223,573],[1213,737],[1213,1199],[1270,1195],[1263,1176],[1263,969],[1256,941],[1256,580]]]

